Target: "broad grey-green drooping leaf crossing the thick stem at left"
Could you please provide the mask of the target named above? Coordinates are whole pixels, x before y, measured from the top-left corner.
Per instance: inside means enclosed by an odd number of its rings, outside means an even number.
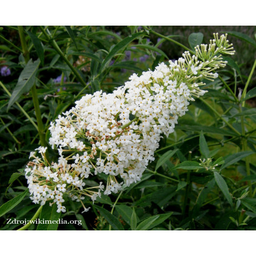
[[[19,75],[16,87],[13,90],[11,98],[9,99],[7,110],[19,99],[23,93],[27,93],[35,83],[36,73],[38,70],[40,60],[35,61],[29,60],[27,65],[24,67],[21,75]]]

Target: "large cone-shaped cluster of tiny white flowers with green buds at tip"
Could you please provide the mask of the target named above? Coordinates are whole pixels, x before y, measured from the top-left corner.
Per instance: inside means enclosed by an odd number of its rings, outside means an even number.
[[[185,52],[178,61],[169,61],[169,66],[161,63],[140,77],[133,74],[112,93],[83,96],[51,122],[49,143],[60,157],[50,165],[45,148],[38,149],[42,159],[32,152],[35,160],[29,162],[26,178],[33,202],[53,200],[58,211],[65,211],[64,193],[78,201],[83,195],[94,201],[101,191],[110,195],[123,184],[139,181],[154,160],[161,134],[173,132],[178,117],[188,111],[189,101],[206,92],[198,80],[218,77],[213,71],[225,66],[220,54],[234,54],[227,35],[214,37],[209,46],[195,47],[195,55]],[[102,173],[107,177],[105,190],[102,183],[87,188],[86,179]]]

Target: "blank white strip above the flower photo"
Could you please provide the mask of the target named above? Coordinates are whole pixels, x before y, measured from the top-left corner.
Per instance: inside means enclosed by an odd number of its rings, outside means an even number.
[[[1,1],[3,25],[254,26],[255,3],[205,0]]]

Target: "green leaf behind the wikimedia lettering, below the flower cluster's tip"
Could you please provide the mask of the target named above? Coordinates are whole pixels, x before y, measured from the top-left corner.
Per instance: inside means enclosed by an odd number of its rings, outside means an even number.
[[[37,226],[37,230],[57,230],[58,219],[60,219],[61,212],[57,213],[57,204],[50,204],[47,202],[43,205],[40,220],[45,220],[45,223],[40,223]],[[48,220],[48,223],[47,223]]]

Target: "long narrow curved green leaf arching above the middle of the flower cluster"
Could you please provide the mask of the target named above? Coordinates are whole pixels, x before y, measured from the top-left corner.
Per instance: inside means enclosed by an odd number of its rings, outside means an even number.
[[[110,53],[106,56],[105,60],[102,62],[99,73],[101,73],[105,69],[106,65],[110,62],[111,58],[116,55],[117,52],[122,50],[122,48],[126,47],[127,45],[129,45],[130,42],[134,41],[137,37],[140,37],[143,34],[144,34],[144,32],[135,33],[133,35],[127,36],[124,40],[117,43],[112,48]]]

